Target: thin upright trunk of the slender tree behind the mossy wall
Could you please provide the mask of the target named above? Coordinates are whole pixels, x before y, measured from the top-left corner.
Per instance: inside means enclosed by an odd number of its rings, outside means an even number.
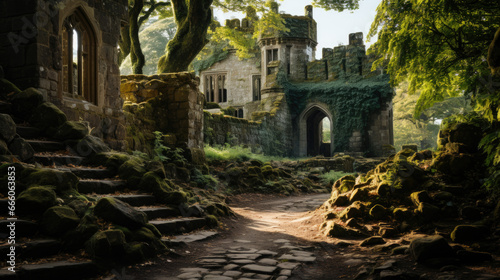
[[[130,59],[132,61],[132,71],[134,74],[142,74],[142,68],[146,63],[139,41],[139,14],[144,7],[144,0],[135,0],[129,12],[129,33],[130,33]]]

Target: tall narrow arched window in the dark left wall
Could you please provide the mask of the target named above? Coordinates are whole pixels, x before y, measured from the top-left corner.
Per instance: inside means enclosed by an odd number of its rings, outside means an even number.
[[[62,27],[63,92],[97,104],[96,36],[80,9]]]

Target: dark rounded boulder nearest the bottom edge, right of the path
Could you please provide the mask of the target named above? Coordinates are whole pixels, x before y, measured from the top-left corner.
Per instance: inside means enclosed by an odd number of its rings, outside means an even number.
[[[419,263],[434,258],[453,258],[455,253],[446,240],[440,235],[416,238],[411,241],[410,255]]]

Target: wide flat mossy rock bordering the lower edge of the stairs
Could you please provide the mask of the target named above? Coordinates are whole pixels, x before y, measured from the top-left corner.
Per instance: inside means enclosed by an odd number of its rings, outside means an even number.
[[[57,169],[39,169],[26,178],[29,185],[54,186],[56,193],[61,194],[69,190],[78,190],[78,177],[71,172]]]

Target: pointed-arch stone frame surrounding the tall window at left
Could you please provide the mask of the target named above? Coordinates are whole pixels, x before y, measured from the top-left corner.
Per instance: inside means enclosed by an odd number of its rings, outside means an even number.
[[[101,90],[99,90],[99,72],[98,72],[98,58],[99,58],[99,46],[102,43],[102,38],[101,38],[101,33],[100,30],[97,28],[98,24],[93,18],[94,15],[94,10],[88,6],[88,3],[84,1],[74,1],[74,2],[69,2],[64,10],[61,10],[59,12],[59,40],[60,40],[60,46],[61,50],[64,48],[64,42],[63,42],[63,32],[64,32],[64,25],[67,21],[68,18],[71,17],[76,17],[77,19],[80,20],[80,22],[83,24],[81,27],[83,27],[85,30],[87,30],[89,33],[88,35],[90,36],[89,39],[89,44],[91,48],[89,49],[89,52],[87,52],[87,61],[90,62],[88,64],[87,70],[83,69],[84,67],[82,66],[82,73],[86,73],[87,75],[87,80],[84,82],[82,80],[82,91],[78,93],[73,93],[73,92],[68,92],[67,86],[69,83],[64,84],[64,79],[65,73],[63,67],[61,67],[60,74],[59,74],[59,85],[58,85],[58,95],[61,99],[65,100],[64,102],[76,102],[76,103],[81,103],[82,106],[85,106],[85,108],[88,109],[98,109],[102,106],[103,104],[103,96],[101,93]],[[63,55],[64,51],[61,51],[61,65],[64,65],[63,61]],[[67,53],[69,55],[69,53]],[[72,57],[72,56],[71,56]],[[81,75],[83,76],[83,75]],[[84,87],[86,85],[86,87]],[[95,108],[94,108],[95,107]]]

